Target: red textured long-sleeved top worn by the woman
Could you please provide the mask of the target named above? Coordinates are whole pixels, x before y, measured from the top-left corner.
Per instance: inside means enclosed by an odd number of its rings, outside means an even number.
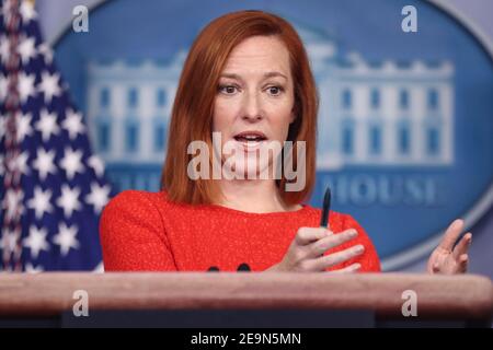
[[[221,206],[192,206],[167,192],[126,190],[103,211],[100,234],[106,271],[262,271],[279,262],[301,226],[318,228],[321,210],[303,205],[290,212],[249,213]],[[380,271],[371,241],[347,214],[330,213],[334,233],[356,229],[358,236],[329,252],[365,246],[354,262],[360,271]],[[328,253],[325,253],[328,254]],[[241,268],[240,268],[241,269]]]

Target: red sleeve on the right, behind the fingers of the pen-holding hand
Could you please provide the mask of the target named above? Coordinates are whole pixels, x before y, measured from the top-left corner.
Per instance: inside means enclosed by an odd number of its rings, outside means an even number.
[[[365,247],[363,255],[349,260],[347,265],[359,262],[362,265],[360,272],[380,272],[380,259],[377,249],[362,225],[349,214],[344,214],[343,226],[343,230],[355,229],[358,232],[356,242],[352,245],[362,244]]]

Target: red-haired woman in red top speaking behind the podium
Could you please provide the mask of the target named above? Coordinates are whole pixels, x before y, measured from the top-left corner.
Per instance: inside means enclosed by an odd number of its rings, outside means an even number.
[[[351,215],[331,212],[320,228],[321,211],[305,203],[316,176],[317,113],[307,52],[287,21],[240,11],[209,23],[180,78],[162,190],[123,191],[103,212],[105,270],[380,271]],[[234,152],[227,158],[225,149]],[[278,176],[256,176],[274,167]],[[301,186],[293,187],[289,168]],[[448,229],[431,272],[466,270],[471,234],[454,249],[462,225]]]

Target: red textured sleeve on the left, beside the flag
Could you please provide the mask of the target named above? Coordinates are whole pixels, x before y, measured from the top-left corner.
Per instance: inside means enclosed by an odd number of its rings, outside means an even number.
[[[146,192],[126,190],[104,208],[100,238],[105,271],[175,271],[160,211]]]

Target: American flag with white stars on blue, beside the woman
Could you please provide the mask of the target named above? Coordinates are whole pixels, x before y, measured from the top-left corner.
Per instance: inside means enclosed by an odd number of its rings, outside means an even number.
[[[32,1],[2,1],[0,69],[2,269],[101,268],[99,217],[112,187]]]

